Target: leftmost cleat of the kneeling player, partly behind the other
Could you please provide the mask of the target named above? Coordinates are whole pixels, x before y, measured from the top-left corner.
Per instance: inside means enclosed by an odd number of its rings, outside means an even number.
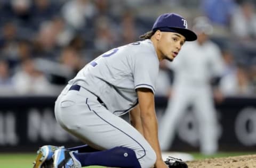
[[[33,168],[50,168],[53,165],[52,156],[55,150],[59,148],[64,148],[63,146],[52,146],[52,145],[45,145],[40,147],[37,150],[37,156],[35,162],[33,162]]]

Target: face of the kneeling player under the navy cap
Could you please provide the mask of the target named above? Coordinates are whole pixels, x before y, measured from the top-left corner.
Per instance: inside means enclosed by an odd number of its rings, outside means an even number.
[[[180,52],[181,46],[185,43],[186,38],[175,32],[161,32],[161,38],[158,40],[158,50],[161,53],[160,60],[173,59]]]

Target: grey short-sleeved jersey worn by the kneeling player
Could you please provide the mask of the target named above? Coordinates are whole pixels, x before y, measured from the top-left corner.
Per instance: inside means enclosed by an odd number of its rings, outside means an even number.
[[[87,64],[69,85],[78,84],[98,96],[115,115],[138,104],[135,89],[155,93],[159,60],[151,40],[111,49]]]

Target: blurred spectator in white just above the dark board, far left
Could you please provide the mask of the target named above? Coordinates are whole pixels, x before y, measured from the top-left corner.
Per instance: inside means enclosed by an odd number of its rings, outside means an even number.
[[[50,95],[50,83],[45,75],[36,69],[31,59],[23,60],[21,68],[13,75],[13,85],[19,95]]]

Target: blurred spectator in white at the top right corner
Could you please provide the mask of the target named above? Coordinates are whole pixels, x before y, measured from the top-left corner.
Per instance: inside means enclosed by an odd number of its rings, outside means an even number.
[[[239,4],[231,16],[230,28],[234,36],[243,42],[256,39],[256,13],[253,3],[244,0]]]

